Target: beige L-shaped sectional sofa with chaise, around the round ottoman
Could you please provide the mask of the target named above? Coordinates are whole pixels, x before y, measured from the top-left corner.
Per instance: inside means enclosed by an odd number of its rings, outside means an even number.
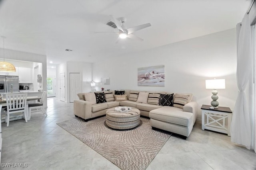
[[[106,115],[106,110],[117,106],[128,106],[135,107],[140,110],[140,115],[150,118],[150,124],[152,128],[163,129],[165,131],[170,131],[173,133],[180,134],[182,136],[188,137],[192,131],[193,125],[196,121],[198,104],[193,101],[192,94],[174,94],[184,95],[187,97],[187,103],[184,106],[160,106],[155,104],[148,104],[145,99],[138,97],[138,99],[131,99],[130,92],[138,92],[143,94],[145,91],[135,91],[135,90],[124,90],[124,94],[127,96],[127,100],[122,101],[109,101],[104,103],[96,103],[95,101],[86,101],[89,98],[88,95],[93,96],[93,93],[79,93],[78,100],[74,100],[74,115],[76,117],[81,117],[88,121],[99,116]],[[113,91],[108,91],[108,93],[113,93]],[[171,94],[166,92],[148,92],[150,94],[161,93],[161,94]],[[144,93],[144,94],[148,94]],[[86,96],[86,97],[85,97]],[[142,99],[139,101],[139,98]],[[133,101],[131,101],[133,100]],[[135,100],[137,100],[135,102]],[[144,100],[144,101],[143,101]],[[143,102],[143,103],[142,103]],[[180,108],[178,108],[180,107]]]

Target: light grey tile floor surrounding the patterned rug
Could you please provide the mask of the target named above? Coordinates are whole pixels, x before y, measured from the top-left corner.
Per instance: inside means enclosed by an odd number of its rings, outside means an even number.
[[[27,163],[27,168],[2,169],[67,169],[118,170],[106,158],[56,125],[74,119],[73,104],[48,98],[48,117],[33,113],[30,121],[2,123],[1,163]],[[1,164],[3,166],[3,164]],[[196,122],[184,140],[171,136],[147,170],[255,170],[256,154],[230,142],[230,137],[202,131]]]

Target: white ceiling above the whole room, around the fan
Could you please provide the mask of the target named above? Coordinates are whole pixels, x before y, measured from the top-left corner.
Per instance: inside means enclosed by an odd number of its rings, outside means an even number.
[[[0,3],[0,35],[6,49],[63,61],[94,62],[236,27],[250,0],[5,0]],[[144,39],[94,33],[117,31],[109,15],[126,17],[126,28],[151,27],[134,34]],[[1,40],[2,47],[2,40]],[[67,52],[65,49],[72,49]],[[50,65],[50,64],[49,64]]]

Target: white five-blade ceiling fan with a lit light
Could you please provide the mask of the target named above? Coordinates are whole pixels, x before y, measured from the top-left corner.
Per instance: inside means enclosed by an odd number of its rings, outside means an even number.
[[[106,24],[109,25],[110,27],[117,28],[118,29],[118,33],[117,32],[95,32],[95,33],[115,33],[115,34],[119,34],[119,38],[120,39],[125,39],[127,37],[127,38],[131,38],[131,39],[137,39],[139,41],[143,41],[142,38],[134,35],[133,33],[135,31],[140,30],[140,29],[144,29],[146,27],[150,27],[151,26],[150,23],[145,23],[145,24],[142,24],[142,25],[138,25],[138,26],[126,29],[126,27],[124,26],[124,22],[126,21],[126,18],[120,17],[120,18],[116,19],[116,18],[114,18],[113,15],[110,15],[110,17],[111,17],[112,21],[114,21],[114,22],[109,21]],[[122,23],[122,25],[120,25],[120,22]],[[116,43],[118,43],[118,41],[116,41]]]

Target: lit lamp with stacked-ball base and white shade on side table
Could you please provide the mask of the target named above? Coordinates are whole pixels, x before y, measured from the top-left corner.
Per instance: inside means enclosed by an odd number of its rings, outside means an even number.
[[[213,89],[212,90],[212,102],[211,105],[214,108],[218,108],[219,102],[218,100],[218,91],[216,89],[225,89],[225,79],[213,79],[213,80],[205,80],[205,88]]]

